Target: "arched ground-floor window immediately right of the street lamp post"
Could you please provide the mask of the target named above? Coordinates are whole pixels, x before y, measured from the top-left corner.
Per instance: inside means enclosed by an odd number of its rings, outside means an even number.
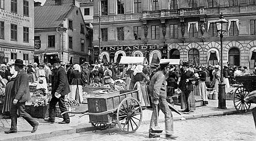
[[[229,49],[230,66],[240,66],[240,51],[238,48]]]

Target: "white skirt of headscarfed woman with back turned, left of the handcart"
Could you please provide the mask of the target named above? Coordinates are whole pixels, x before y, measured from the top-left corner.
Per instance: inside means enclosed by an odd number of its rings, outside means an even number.
[[[71,92],[68,94],[68,99],[79,100],[79,102],[82,103],[82,101],[84,101],[82,97],[82,86],[71,85]]]

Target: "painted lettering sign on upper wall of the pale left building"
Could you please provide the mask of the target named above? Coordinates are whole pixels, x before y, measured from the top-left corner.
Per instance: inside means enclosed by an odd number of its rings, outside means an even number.
[[[7,10],[0,10],[0,20],[3,22],[11,23],[11,24],[17,24],[21,26],[26,26],[26,27],[33,27],[33,20],[31,17],[16,14],[11,11]]]

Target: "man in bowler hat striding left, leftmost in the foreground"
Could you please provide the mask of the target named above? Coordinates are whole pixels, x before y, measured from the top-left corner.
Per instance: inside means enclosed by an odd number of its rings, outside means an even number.
[[[11,95],[11,100],[13,100],[10,112],[11,129],[9,131],[5,131],[5,133],[17,133],[17,110],[19,111],[19,115],[33,127],[31,133],[35,133],[38,129],[39,122],[32,118],[25,109],[25,102],[31,100],[30,88],[28,87],[28,74],[23,70],[24,65],[21,59],[16,59],[14,65],[15,71],[18,71],[18,75],[14,80]]]

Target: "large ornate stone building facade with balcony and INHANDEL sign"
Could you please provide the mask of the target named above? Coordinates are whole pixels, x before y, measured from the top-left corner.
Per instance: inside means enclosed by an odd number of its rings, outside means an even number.
[[[220,61],[215,22],[223,13],[228,20],[224,63],[253,68],[255,9],[255,0],[94,0],[94,59],[100,14],[104,61],[118,62],[122,55],[133,55],[146,57],[149,63],[180,58],[195,65],[215,65]]]

